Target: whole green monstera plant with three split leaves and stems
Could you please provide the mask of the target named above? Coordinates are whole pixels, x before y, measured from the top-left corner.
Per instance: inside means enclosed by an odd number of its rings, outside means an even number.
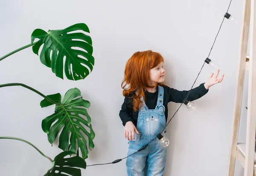
[[[65,73],[67,79],[70,80],[84,79],[93,70],[94,58],[92,56],[91,37],[80,31],[90,33],[89,28],[84,23],[75,24],[65,29],[49,30],[48,32],[42,29],[35,29],[31,35],[31,43],[29,45],[0,57],[0,61],[30,46],[32,46],[32,51],[38,55],[39,49],[42,48],[40,52],[41,63],[51,68],[57,77],[64,79],[63,75]],[[22,83],[2,84],[0,88],[8,86],[22,86],[39,94],[44,98],[40,103],[41,108],[55,105],[55,111],[52,115],[42,120],[42,129],[47,133],[48,141],[51,144],[60,134],[58,147],[64,152],[60,153],[52,161],[36,148],[53,164],[45,176],[81,176],[81,170],[74,167],[85,169],[86,162],[84,159],[88,157],[87,145],[90,150],[94,148],[93,139],[95,133],[90,124],[91,118],[87,113],[90,102],[81,97],[81,91],[78,88],[68,90],[62,99],[59,93],[46,96]],[[69,135],[70,133],[71,136]],[[87,136],[88,144],[85,136]],[[16,139],[32,145],[23,139],[15,137],[0,137],[0,139]],[[35,148],[34,145],[32,146]],[[79,149],[81,157],[79,156]],[[64,158],[72,154],[77,155],[71,158]]]

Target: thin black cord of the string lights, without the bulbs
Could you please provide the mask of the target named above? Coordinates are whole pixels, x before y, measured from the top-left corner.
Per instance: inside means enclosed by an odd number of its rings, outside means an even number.
[[[231,4],[231,2],[232,2],[232,0],[230,0],[230,4]],[[229,4],[229,6],[228,6],[228,8],[227,8],[227,12],[228,12],[228,10],[229,10],[229,8],[230,8],[230,4]],[[222,22],[221,22],[221,26],[222,26],[222,24],[223,24],[223,22],[224,22],[224,19],[225,19],[225,17],[223,17],[223,20],[222,20]],[[220,28],[219,28],[219,30],[218,30],[218,33],[217,33],[217,35],[216,35],[216,37],[215,37],[215,39],[214,39],[214,42],[213,42],[213,44],[212,44],[212,48],[213,48],[213,46],[214,46],[214,44],[215,44],[215,41],[216,41],[216,39],[217,39],[217,37],[218,37],[218,34],[219,34],[220,30],[221,30],[221,26],[220,26]],[[211,51],[212,51],[212,48],[210,49],[210,52],[209,52],[209,55],[208,55],[207,58],[209,58],[209,56],[210,56],[210,54],[211,54]],[[205,64],[205,62],[204,62],[204,64]],[[199,74],[201,73],[201,71],[202,71],[202,69],[203,69],[203,67],[204,67],[204,64],[203,64],[203,66],[201,67],[201,70],[199,71],[198,76],[199,76]],[[195,81],[194,81],[192,87],[190,88],[189,93],[188,93],[188,95],[186,96],[186,98],[184,99],[184,101],[189,97],[190,91],[192,90],[193,86],[195,85],[195,82],[196,82],[196,80],[198,79],[198,76],[196,77],[196,79],[195,79]],[[183,101],[183,102],[184,102],[184,101]],[[180,104],[180,106],[179,106],[179,108],[177,109],[177,111],[179,111],[179,109],[180,109],[180,107],[181,107],[182,104],[183,104],[183,103]],[[174,115],[172,116],[172,118],[175,116],[175,114],[177,113],[177,111],[174,113]],[[165,128],[163,129],[163,131],[166,129],[167,125],[169,125],[169,123],[171,122],[172,118],[168,121],[168,123],[166,124]],[[161,133],[162,133],[163,131],[161,131]],[[156,138],[157,138],[157,137],[155,137],[154,139],[156,139]],[[142,148],[140,148],[138,151],[132,153],[132,154],[129,155],[129,156],[132,156],[133,154],[135,154],[135,153],[137,153],[137,152],[140,152],[141,150],[144,150],[152,141],[154,141],[154,139],[152,139],[150,142],[148,142],[147,145],[144,145],[144,146],[143,146]],[[255,150],[256,150],[256,149],[255,149]],[[129,156],[126,156],[125,158],[122,158],[122,159],[116,159],[116,160],[113,161],[113,162],[108,162],[108,163],[103,163],[103,164],[95,164],[95,165],[115,164],[115,163],[117,163],[117,162],[122,161],[123,159],[128,158]],[[87,165],[87,167],[88,167],[88,166],[95,166],[95,165]]]

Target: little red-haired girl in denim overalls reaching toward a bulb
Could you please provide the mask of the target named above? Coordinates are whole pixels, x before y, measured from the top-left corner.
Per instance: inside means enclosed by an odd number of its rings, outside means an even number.
[[[204,96],[209,87],[222,81],[224,75],[217,78],[218,73],[219,70],[215,76],[212,73],[205,83],[193,88],[187,97],[189,91],[178,91],[163,85],[166,73],[161,54],[149,50],[132,55],[125,65],[122,82],[125,100],[119,113],[125,126],[125,138],[129,141],[129,157],[126,160],[128,176],[144,176],[146,162],[147,176],[163,176],[166,148],[160,145],[156,136],[166,126],[168,103],[183,103],[186,97],[193,101]],[[144,150],[137,152],[152,139]]]

